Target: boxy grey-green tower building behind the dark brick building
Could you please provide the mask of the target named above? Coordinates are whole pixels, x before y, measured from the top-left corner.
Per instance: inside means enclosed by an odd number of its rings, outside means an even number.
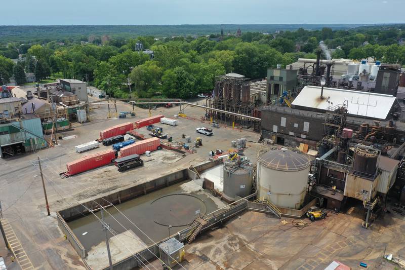
[[[277,102],[284,91],[293,91],[297,86],[297,70],[269,68],[267,69],[267,103]]]

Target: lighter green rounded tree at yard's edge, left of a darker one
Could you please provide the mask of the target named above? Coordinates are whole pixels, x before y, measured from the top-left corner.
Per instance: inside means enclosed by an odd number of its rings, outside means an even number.
[[[160,87],[162,74],[163,69],[157,65],[156,61],[146,61],[134,67],[129,77],[135,84],[139,97],[151,97]]]

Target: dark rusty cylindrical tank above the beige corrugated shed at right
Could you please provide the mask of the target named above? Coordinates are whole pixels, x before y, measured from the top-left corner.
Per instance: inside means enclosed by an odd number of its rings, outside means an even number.
[[[377,167],[378,151],[358,146],[354,152],[353,170],[357,173],[374,176]]]

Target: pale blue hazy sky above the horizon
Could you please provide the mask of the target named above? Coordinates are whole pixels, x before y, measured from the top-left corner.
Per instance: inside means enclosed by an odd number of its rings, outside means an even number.
[[[0,25],[405,23],[405,0],[19,0],[17,2],[2,0],[1,2],[3,12],[0,16]]]

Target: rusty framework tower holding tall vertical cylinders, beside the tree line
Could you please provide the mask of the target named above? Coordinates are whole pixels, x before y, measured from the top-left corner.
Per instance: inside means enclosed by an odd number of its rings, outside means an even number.
[[[232,76],[230,74],[217,76],[214,95],[207,99],[207,107],[234,112],[247,117],[253,115],[254,104],[250,100],[250,84],[245,76]],[[244,127],[254,125],[248,118],[229,115],[227,113],[208,110],[207,117],[215,122],[232,123]]]

